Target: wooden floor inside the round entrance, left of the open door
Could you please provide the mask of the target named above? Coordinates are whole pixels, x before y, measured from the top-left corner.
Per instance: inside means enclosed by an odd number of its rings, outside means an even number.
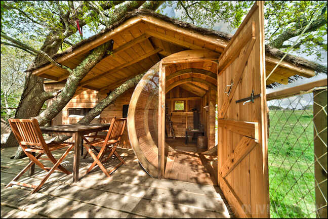
[[[168,154],[166,179],[218,185],[216,157],[203,155],[201,152],[206,149],[197,149],[196,143],[185,144],[185,138],[167,138],[166,141],[175,149]]]

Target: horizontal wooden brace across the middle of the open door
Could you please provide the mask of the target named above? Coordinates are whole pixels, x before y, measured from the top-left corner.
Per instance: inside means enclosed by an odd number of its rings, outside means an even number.
[[[259,140],[259,123],[235,121],[231,119],[218,119],[218,126],[226,128],[231,132]]]

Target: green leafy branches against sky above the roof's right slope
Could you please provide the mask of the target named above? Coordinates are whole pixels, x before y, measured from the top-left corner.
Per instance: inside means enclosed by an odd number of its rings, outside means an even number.
[[[218,22],[237,28],[249,12],[254,1],[167,1],[165,7],[175,8],[178,19],[197,26],[214,28]],[[325,1],[265,1],[265,43],[286,51],[293,45],[311,19],[308,30],[300,38],[292,52],[315,55],[322,60],[327,51],[327,3]]]

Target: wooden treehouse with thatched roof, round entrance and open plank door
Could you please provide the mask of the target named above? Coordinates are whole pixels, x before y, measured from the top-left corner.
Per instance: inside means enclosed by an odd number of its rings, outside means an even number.
[[[284,53],[264,45],[263,22],[263,2],[253,6],[233,36],[147,10],[128,13],[53,57],[73,69],[96,47],[114,42],[112,53],[80,81],[53,122],[77,122],[71,115],[83,115],[146,72],[100,114],[122,117],[129,105],[124,141],[144,170],[154,178],[219,185],[236,216],[267,217],[265,89],[315,72],[303,58],[287,55],[279,62]],[[30,70],[50,79],[47,90],[60,89],[68,77],[51,63]]]

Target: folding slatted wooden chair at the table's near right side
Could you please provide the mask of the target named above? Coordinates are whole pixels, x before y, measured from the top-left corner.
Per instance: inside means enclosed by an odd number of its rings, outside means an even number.
[[[108,133],[105,139],[99,139],[95,140],[93,142],[87,142],[84,144],[84,147],[87,149],[88,153],[91,155],[91,157],[95,160],[89,169],[87,170],[87,173],[89,173],[93,167],[96,165],[99,165],[100,169],[106,174],[107,177],[110,177],[110,174],[115,171],[120,165],[124,164],[125,161],[118,155],[116,152],[117,143],[120,141],[120,138],[124,132],[124,128],[126,125],[127,119],[115,119],[113,118],[110,122],[110,127],[108,129]],[[96,156],[91,148],[89,146],[94,147],[101,147],[98,155]],[[103,158],[106,149],[110,149],[110,153],[106,158]],[[110,158],[112,155],[114,155],[117,159],[119,159],[120,163],[117,164],[113,169],[111,169],[109,172],[107,172],[106,168],[103,166],[101,162],[106,161],[108,158]]]

